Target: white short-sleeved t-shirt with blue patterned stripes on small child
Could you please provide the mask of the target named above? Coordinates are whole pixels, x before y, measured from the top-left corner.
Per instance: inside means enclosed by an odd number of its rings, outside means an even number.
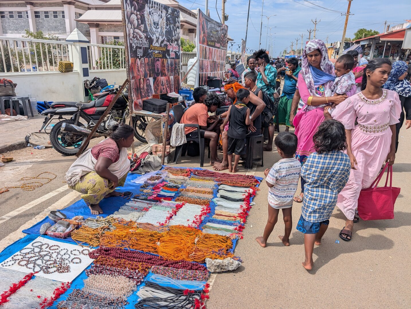
[[[301,163],[296,158],[281,159],[271,167],[266,177],[266,181],[274,185],[268,188],[268,204],[271,207],[280,209],[293,206],[300,171]]]

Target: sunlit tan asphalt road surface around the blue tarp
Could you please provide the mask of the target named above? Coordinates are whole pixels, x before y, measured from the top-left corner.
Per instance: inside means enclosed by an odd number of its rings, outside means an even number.
[[[321,246],[314,248],[314,269],[307,272],[301,266],[303,235],[293,230],[290,247],[284,247],[277,238],[284,229],[281,213],[268,247],[262,248],[255,241],[262,235],[267,220],[268,188],[263,183],[247,219],[244,239],[236,247],[235,254],[242,258],[242,266],[236,271],[210,277],[207,307],[410,308],[411,130],[403,128],[400,136],[393,185],[401,187],[402,191],[395,204],[394,220],[360,221],[355,224],[353,240],[344,242],[338,237],[344,226],[344,215],[336,209]],[[29,147],[10,155],[15,160],[0,167],[0,188],[5,184],[20,184],[21,177],[37,176],[42,172],[52,172],[57,177],[33,191],[16,188],[0,195],[1,248],[23,237],[21,230],[41,220],[50,210],[64,208],[79,199],[79,194],[68,189],[63,179],[74,157],[61,156],[53,149]],[[197,158],[183,159],[179,166],[199,166]],[[240,172],[263,176],[264,169],[278,159],[275,150],[265,152],[264,167],[259,165],[253,170],[244,170],[240,166]],[[210,165],[206,163],[204,168],[210,169]],[[293,226],[300,216],[300,206],[294,204]],[[339,244],[335,240],[340,240]]]

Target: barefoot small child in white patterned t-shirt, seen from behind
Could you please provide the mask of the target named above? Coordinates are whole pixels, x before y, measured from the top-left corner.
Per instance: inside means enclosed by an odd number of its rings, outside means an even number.
[[[297,150],[297,136],[291,132],[281,132],[274,140],[277,151],[282,157],[271,169],[266,169],[266,183],[268,189],[268,220],[263,236],[257,237],[261,247],[267,246],[267,239],[277,223],[279,210],[284,217],[284,236],[278,236],[284,245],[289,246],[289,237],[293,225],[291,208],[293,197],[300,178],[301,163],[295,158]]]

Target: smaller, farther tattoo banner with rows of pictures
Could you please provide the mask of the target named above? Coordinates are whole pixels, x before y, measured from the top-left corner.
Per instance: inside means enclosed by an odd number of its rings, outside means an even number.
[[[224,79],[228,26],[211,19],[200,9],[197,14],[198,85],[207,85],[207,76]]]

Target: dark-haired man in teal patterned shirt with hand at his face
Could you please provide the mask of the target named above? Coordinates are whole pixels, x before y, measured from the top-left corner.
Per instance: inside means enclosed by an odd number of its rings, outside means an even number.
[[[267,93],[274,101],[275,80],[277,79],[277,69],[270,64],[270,57],[265,49],[257,50],[254,53],[256,57],[258,68],[256,86]],[[272,151],[272,140],[274,138],[274,119],[271,120],[268,127],[268,143],[264,146],[264,151]]]

